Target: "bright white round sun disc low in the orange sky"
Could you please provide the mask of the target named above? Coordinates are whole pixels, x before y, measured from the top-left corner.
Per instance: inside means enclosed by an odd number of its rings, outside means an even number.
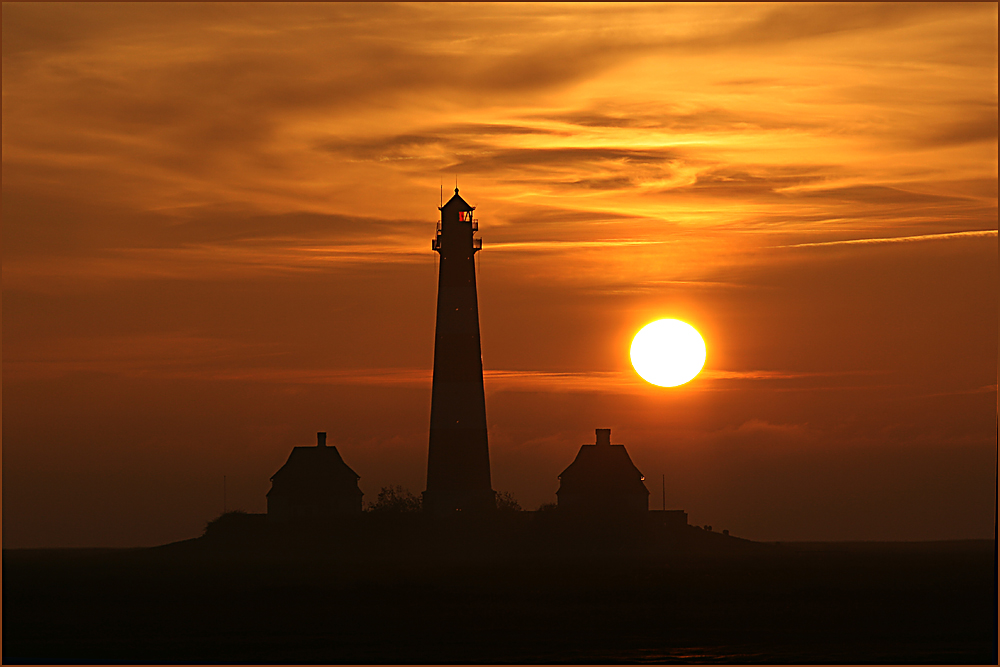
[[[632,339],[632,366],[643,380],[660,387],[690,382],[705,365],[705,341],[680,320],[657,320]]]

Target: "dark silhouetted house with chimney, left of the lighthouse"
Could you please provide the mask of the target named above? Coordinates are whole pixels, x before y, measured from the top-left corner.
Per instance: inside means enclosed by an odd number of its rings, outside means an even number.
[[[317,433],[315,447],[293,448],[271,477],[267,516],[290,520],[360,512],[359,479],[337,448],[326,446],[326,433]]]

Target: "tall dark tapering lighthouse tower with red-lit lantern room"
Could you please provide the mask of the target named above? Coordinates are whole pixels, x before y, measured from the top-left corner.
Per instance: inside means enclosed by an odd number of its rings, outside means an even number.
[[[484,512],[496,508],[486,438],[483,352],[479,342],[473,238],[474,206],[455,196],[441,207],[432,242],[441,255],[438,273],[434,384],[424,510],[433,514]]]

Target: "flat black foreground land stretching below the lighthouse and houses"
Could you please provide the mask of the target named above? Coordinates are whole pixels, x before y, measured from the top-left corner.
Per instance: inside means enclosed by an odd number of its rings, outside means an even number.
[[[376,546],[4,551],[3,660],[997,660],[992,542],[520,554],[460,541]]]

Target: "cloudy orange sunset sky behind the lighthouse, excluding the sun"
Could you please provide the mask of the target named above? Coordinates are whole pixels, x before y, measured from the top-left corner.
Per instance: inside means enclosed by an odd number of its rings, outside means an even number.
[[[493,482],[595,428],[752,539],[993,534],[997,5],[3,5],[4,546],[424,488],[442,186]],[[706,370],[646,384],[645,323]]]

